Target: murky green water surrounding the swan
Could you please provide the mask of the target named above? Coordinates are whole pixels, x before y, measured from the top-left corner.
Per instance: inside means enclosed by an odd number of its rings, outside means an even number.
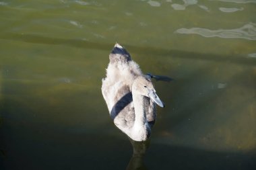
[[[255,169],[256,1],[0,1],[1,169]],[[147,143],[111,122],[115,42],[166,108]]]

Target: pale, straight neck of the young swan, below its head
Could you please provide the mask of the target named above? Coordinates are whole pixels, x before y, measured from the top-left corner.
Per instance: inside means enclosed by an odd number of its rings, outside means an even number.
[[[133,93],[133,105],[135,111],[135,121],[133,125],[133,140],[146,140],[150,135],[150,126],[146,118],[146,107],[144,96]]]

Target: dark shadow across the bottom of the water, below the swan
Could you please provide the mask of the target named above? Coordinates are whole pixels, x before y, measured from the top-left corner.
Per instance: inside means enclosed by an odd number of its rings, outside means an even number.
[[[37,141],[36,138],[41,140]],[[47,130],[43,136],[32,134],[29,137],[18,136],[8,140],[8,157],[0,165],[3,169],[256,168],[255,152],[214,152],[166,144],[150,144],[147,149],[147,144],[133,141],[131,157],[131,147],[125,136],[116,138],[106,134],[68,134]]]

